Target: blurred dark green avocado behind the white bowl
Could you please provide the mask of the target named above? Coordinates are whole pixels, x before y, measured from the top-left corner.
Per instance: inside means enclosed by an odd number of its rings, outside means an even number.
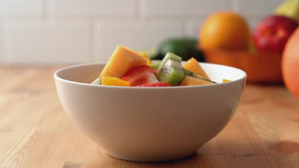
[[[197,61],[203,62],[203,53],[196,48],[198,40],[195,38],[181,37],[170,38],[159,45],[159,56],[157,59],[163,59],[166,53],[170,52],[182,58],[182,61],[187,61],[194,57]]]

